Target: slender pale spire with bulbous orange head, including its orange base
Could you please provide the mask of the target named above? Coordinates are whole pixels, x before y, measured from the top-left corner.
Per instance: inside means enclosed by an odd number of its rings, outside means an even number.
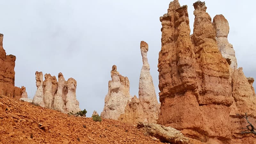
[[[152,76],[149,72],[148,44],[144,41],[140,42],[140,52],[143,66],[140,72],[139,99],[134,96],[127,103],[124,114],[121,114],[118,120],[133,124],[137,122],[156,123],[160,107],[156,99]]]

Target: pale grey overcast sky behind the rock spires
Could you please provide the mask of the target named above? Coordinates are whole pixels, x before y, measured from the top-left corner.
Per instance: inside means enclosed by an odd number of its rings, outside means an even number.
[[[196,1],[196,0],[195,0]],[[194,7],[188,5],[193,31]],[[80,108],[100,114],[108,93],[112,65],[130,80],[130,93],[139,91],[140,41],[149,45],[148,61],[156,93],[161,22],[170,0],[1,0],[0,33],[4,49],[17,57],[15,85],[24,85],[28,96],[36,92],[35,72],[50,73],[77,81]],[[255,2],[253,0],[205,0],[212,19],[223,14],[229,22],[228,40],[233,44],[239,67],[245,76],[256,77]],[[256,86],[256,85],[254,85]],[[157,95],[157,99],[159,99]]]

